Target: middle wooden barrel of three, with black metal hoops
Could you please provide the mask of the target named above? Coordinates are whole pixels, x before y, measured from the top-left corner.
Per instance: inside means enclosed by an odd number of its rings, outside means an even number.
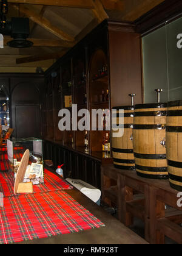
[[[133,151],[138,176],[167,179],[166,104],[135,105]]]

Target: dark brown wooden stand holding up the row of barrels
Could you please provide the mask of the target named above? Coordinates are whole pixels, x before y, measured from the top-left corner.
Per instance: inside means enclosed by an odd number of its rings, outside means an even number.
[[[165,235],[182,243],[182,207],[177,206],[179,191],[170,188],[168,180],[144,179],[135,171],[101,167],[104,197],[117,202],[118,218],[126,226],[133,224],[133,216],[144,221],[145,239],[149,243],[164,243]],[[117,188],[106,187],[105,179],[117,181]],[[107,182],[108,183],[108,182]],[[136,196],[136,191],[140,196]],[[170,205],[169,211],[165,206]]]

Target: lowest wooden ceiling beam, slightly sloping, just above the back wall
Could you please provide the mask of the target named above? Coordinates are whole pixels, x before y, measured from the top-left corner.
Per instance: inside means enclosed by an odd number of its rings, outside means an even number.
[[[67,51],[61,51],[61,52],[55,52],[51,54],[40,54],[35,56],[29,56],[24,58],[16,59],[16,64],[23,64],[23,63],[30,63],[30,62],[41,62],[42,60],[53,60],[53,59],[59,59],[64,54],[66,54]]]

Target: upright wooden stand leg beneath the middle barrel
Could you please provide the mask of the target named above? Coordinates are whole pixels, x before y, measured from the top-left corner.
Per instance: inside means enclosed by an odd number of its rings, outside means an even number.
[[[165,235],[157,230],[157,219],[165,218],[165,204],[157,201],[157,189],[150,188],[150,243],[164,244]]]

